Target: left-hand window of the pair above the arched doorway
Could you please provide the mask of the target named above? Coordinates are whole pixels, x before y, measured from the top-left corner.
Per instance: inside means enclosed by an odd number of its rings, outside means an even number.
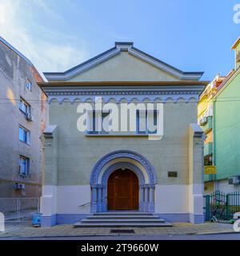
[[[103,120],[109,115],[105,112],[91,111],[88,115],[88,134],[108,134],[108,130],[104,130]]]

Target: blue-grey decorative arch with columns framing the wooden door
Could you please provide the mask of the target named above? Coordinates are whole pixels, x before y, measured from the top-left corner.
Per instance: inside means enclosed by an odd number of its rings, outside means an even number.
[[[145,170],[148,175],[148,184],[146,184],[146,178],[142,172],[142,170],[131,162],[115,162],[114,164],[108,166],[104,173],[102,174],[102,178],[99,181],[99,175],[106,166],[112,160],[118,158],[129,158],[138,162]],[[142,156],[142,154],[138,154],[134,151],[130,150],[118,150],[106,154],[98,162],[95,164],[94,169],[90,175],[90,186],[91,186],[91,212],[102,212],[107,210],[107,180],[114,170],[118,170],[121,168],[128,168],[138,176],[139,181],[139,210],[146,212],[154,212],[155,209],[155,201],[154,201],[154,190],[155,184],[157,182],[156,173],[154,170],[154,166],[150,164],[150,162]]]

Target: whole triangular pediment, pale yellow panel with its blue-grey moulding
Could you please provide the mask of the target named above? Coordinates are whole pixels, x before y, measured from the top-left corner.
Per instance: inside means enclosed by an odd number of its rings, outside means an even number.
[[[115,47],[63,73],[44,73],[48,81],[178,81],[198,80],[202,72],[182,72],[134,48],[133,43]]]

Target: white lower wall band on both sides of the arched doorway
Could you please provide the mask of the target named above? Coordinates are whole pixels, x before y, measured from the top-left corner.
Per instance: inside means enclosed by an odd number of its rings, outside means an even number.
[[[202,185],[201,185],[202,186]],[[156,214],[202,214],[202,195],[189,197],[192,185],[156,185]],[[44,216],[54,214],[90,214],[90,186],[43,186],[41,213]],[[190,210],[193,198],[197,198]],[[56,201],[54,205],[54,201]]]

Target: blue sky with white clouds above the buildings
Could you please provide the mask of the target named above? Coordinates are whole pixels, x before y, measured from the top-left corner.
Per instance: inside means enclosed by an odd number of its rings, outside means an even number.
[[[131,41],[202,79],[234,68],[240,0],[0,0],[0,35],[40,71],[63,71]]]

